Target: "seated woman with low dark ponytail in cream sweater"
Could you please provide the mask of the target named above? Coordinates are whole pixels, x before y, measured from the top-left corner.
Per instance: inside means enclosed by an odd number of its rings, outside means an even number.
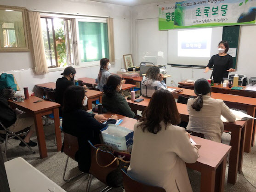
[[[223,115],[229,122],[235,121],[235,116],[221,99],[213,99],[211,87],[206,79],[198,79],[194,85],[197,98],[188,99],[188,130],[202,133],[205,139],[216,142],[222,141],[224,125]]]

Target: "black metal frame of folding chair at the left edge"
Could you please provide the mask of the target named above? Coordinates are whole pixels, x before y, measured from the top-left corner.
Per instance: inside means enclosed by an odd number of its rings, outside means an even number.
[[[5,144],[5,151],[4,151],[5,155],[6,155],[6,153],[7,153],[8,139],[12,139],[12,138],[14,138],[14,137],[17,137],[21,142],[23,142],[23,143],[30,149],[30,151],[32,151],[33,153],[35,153],[35,151],[34,151],[30,146],[28,146],[28,144],[20,137],[20,135],[22,135],[22,134],[24,134],[24,133],[27,133],[28,130],[29,130],[29,128],[26,128],[26,129],[24,129],[24,130],[21,130],[21,131],[18,131],[18,132],[16,132],[16,133],[14,133],[14,132],[10,131],[8,128],[6,128],[6,127],[4,126],[4,124],[2,124],[1,121],[0,121],[0,125],[2,125],[2,127],[4,128],[4,130],[6,130],[6,134],[1,134],[1,135],[5,135],[5,136],[6,136],[6,140],[5,140],[6,144]]]

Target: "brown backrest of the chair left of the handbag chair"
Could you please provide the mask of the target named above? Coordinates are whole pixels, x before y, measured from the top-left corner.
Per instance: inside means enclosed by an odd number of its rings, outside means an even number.
[[[78,151],[78,140],[76,136],[64,133],[63,152],[75,160],[75,153]]]

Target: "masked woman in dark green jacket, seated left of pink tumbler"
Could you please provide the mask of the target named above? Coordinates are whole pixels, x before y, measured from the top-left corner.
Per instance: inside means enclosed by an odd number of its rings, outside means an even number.
[[[122,89],[122,79],[118,75],[108,77],[106,85],[103,87],[102,105],[108,111],[134,118],[128,103],[119,91]]]

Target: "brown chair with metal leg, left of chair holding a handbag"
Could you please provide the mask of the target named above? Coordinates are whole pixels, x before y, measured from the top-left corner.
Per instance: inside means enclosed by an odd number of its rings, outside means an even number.
[[[80,174],[74,175],[73,177],[69,179],[65,179],[65,174],[68,166],[68,158],[72,158],[75,160],[75,153],[78,151],[78,140],[77,137],[72,136],[68,133],[64,133],[64,141],[63,141],[63,152],[67,155],[67,160],[64,168],[64,173],[63,173],[63,180],[65,182],[69,182],[72,179],[76,178],[77,176],[83,174],[81,172]]]

